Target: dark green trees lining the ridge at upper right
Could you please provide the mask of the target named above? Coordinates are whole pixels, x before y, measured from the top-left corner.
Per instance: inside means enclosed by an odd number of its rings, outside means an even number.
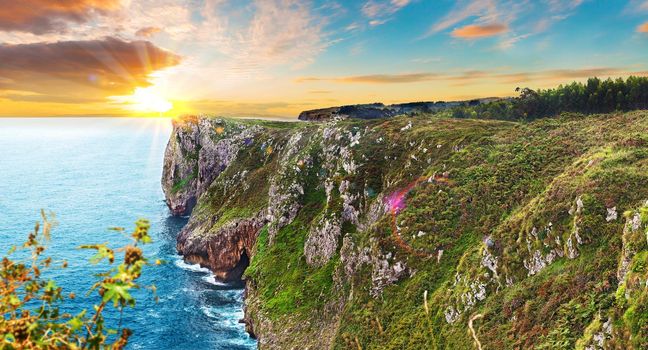
[[[516,89],[520,96],[475,106],[453,108],[454,118],[534,120],[563,112],[610,113],[648,108],[648,77],[626,80],[590,78],[555,89]]]

